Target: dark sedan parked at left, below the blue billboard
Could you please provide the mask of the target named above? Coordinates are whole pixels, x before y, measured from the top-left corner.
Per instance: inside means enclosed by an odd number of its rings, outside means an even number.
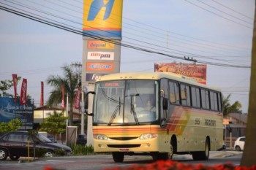
[[[56,150],[61,150],[65,155],[71,155],[72,150],[64,144],[53,143],[42,134],[29,139],[28,131],[11,131],[0,137],[0,161],[4,161],[9,156],[12,160],[18,160],[20,156],[28,156],[28,146],[31,152],[36,149],[44,149],[46,157],[52,157]],[[33,142],[34,141],[34,142]],[[30,152],[30,153],[31,153]]]

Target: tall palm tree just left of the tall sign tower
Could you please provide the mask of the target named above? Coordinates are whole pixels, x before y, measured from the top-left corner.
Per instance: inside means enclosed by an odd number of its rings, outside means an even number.
[[[46,80],[48,85],[53,86],[53,90],[50,91],[50,96],[48,98],[47,104],[48,106],[61,104],[62,93],[61,87],[64,85],[64,95],[67,98],[69,96],[69,125],[73,123],[73,101],[75,99],[75,89],[80,86],[80,72],[73,72],[69,66],[63,66],[61,69],[64,70],[64,77],[50,75]]]

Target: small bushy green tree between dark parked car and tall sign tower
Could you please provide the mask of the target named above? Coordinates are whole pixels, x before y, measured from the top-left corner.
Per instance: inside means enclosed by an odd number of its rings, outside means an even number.
[[[40,123],[39,131],[47,131],[49,134],[53,134],[53,136],[64,133],[66,131],[65,120],[67,119],[68,117],[63,116],[63,112],[59,114],[54,111],[53,115],[45,118],[45,121]]]

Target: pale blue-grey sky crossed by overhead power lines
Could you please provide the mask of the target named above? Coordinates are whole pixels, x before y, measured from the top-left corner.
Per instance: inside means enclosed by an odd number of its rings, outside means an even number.
[[[0,6],[82,31],[83,0],[0,0]],[[231,94],[230,103],[240,101],[247,112],[254,12],[253,0],[124,0],[122,42],[213,63],[207,65],[207,85]],[[82,57],[80,34],[0,9],[0,80],[12,80],[12,74],[26,78],[37,107],[40,82],[46,102],[52,90],[47,78],[63,77],[61,67],[82,63]],[[189,63],[121,47],[121,72],[154,72],[154,63],[172,62]],[[12,88],[7,92],[14,94]]]

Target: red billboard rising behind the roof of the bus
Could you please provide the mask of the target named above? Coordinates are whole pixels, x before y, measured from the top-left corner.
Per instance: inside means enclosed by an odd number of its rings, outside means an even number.
[[[154,72],[173,72],[187,77],[192,77],[202,84],[206,84],[206,69],[206,64],[154,63]]]

